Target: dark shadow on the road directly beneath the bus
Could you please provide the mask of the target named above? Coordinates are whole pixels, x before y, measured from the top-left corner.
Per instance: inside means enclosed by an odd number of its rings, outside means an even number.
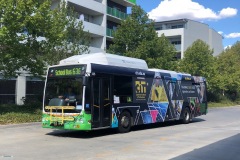
[[[191,123],[199,123],[202,121],[205,121],[205,120],[201,119],[201,118],[194,118]],[[137,132],[137,131],[161,128],[161,127],[171,127],[171,126],[175,126],[175,125],[184,125],[184,124],[181,123],[180,121],[169,121],[169,122],[164,122],[164,123],[139,125],[139,126],[132,127],[131,132]],[[52,132],[47,133],[46,135],[55,136],[55,137],[88,139],[88,138],[97,138],[97,137],[109,136],[109,135],[115,135],[115,134],[121,134],[121,133],[118,133],[117,129],[109,128],[109,129],[92,130],[92,131],[53,130]]]

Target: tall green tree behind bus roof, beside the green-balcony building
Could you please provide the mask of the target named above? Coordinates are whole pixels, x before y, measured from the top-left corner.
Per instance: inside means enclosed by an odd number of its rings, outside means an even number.
[[[121,21],[121,25],[113,35],[113,44],[110,45],[109,50],[120,55],[135,51],[142,41],[150,41],[157,37],[153,21],[137,5],[132,7],[132,14]]]

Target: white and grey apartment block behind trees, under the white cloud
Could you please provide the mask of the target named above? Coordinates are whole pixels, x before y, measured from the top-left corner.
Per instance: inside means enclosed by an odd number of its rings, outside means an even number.
[[[217,56],[223,51],[222,35],[210,28],[207,24],[190,19],[177,19],[155,22],[158,36],[164,34],[177,49],[177,58],[183,58],[186,49],[194,41],[200,39],[214,50]]]

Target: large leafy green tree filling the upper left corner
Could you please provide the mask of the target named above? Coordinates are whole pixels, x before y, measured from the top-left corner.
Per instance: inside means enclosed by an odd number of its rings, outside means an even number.
[[[88,52],[89,35],[72,9],[51,0],[0,0],[0,71],[44,74],[47,65]]]

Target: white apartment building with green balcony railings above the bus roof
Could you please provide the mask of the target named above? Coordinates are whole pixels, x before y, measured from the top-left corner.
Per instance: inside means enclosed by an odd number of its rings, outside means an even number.
[[[66,0],[68,6],[78,13],[85,31],[91,36],[90,52],[106,51],[112,43],[112,33],[127,17],[127,8],[136,4],[136,0]],[[53,0],[56,7],[60,0]]]

